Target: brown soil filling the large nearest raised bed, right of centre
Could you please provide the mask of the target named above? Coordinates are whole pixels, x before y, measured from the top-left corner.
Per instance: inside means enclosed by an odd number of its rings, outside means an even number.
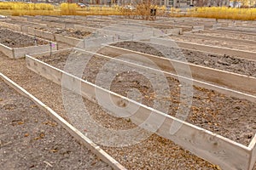
[[[63,69],[68,57],[77,60],[81,59],[80,57],[83,58],[84,55],[80,52],[71,53],[69,51],[54,54],[51,57],[41,56],[38,59]],[[84,69],[84,80],[95,83],[98,72],[106,62],[108,62],[108,59],[92,57]],[[123,64],[117,63],[116,65],[122,66]],[[110,71],[115,70],[106,70],[106,73]],[[117,94],[127,96],[129,89],[137,88],[143,95],[140,99],[130,96],[132,99],[141,100],[144,105],[150,107],[154,107],[154,99],[170,102],[168,114],[175,116],[181,104],[180,83],[172,77],[166,77],[166,79],[169,83],[170,97],[165,99],[155,96],[152,84],[146,77],[137,74],[136,71],[122,72],[117,75],[113,79],[111,90]],[[161,83],[164,82],[160,80],[159,86],[161,86]],[[193,104],[186,121],[247,145],[256,133],[255,106],[254,103],[245,99],[236,99],[212,90],[194,87]]]

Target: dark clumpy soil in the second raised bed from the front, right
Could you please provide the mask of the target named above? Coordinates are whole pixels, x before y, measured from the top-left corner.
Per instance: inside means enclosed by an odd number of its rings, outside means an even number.
[[[161,57],[159,51],[141,42],[118,42],[113,44],[119,48],[127,48],[145,54],[153,54]],[[206,54],[202,52],[195,52],[188,49],[182,49],[185,59],[192,64],[207,66],[213,69],[222,71],[236,72],[238,74],[256,77],[256,61],[247,59],[237,59],[236,56]],[[173,56],[167,56],[169,59],[175,59]]]

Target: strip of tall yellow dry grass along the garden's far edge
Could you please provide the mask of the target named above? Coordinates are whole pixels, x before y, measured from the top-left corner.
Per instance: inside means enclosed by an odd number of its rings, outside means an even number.
[[[158,7],[150,3],[140,3],[134,9],[119,6],[79,8],[76,3],[61,3],[60,7],[49,3],[0,3],[0,10],[4,11],[4,14],[12,15],[125,15],[131,19],[141,20],[153,19],[150,16],[150,8],[157,9],[157,16],[166,15],[166,7]],[[170,16],[256,20],[256,8],[203,7],[191,8],[186,12],[171,8]]]

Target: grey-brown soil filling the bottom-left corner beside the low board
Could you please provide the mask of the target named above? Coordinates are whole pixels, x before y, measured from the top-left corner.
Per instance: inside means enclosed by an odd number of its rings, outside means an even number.
[[[0,169],[112,169],[0,80]]]

